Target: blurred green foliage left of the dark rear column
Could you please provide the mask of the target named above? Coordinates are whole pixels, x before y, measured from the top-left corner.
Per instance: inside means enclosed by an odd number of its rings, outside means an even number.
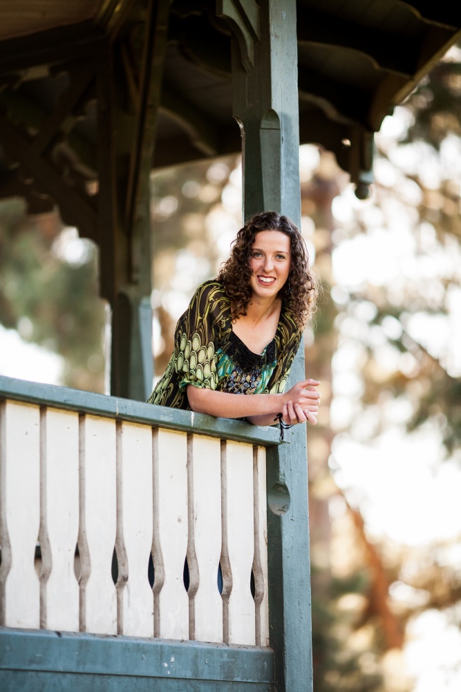
[[[66,233],[57,215],[27,217],[21,201],[0,203],[0,322],[63,356],[63,384],[101,392],[105,309],[96,249],[80,242],[81,256],[66,261],[59,252]]]

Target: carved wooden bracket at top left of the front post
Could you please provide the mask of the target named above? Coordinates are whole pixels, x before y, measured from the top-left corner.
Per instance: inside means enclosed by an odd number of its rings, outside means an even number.
[[[226,19],[239,43],[242,65],[255,65],[255,43],[260,39],[260,8],[255,0],[217,0],[216,13]]]

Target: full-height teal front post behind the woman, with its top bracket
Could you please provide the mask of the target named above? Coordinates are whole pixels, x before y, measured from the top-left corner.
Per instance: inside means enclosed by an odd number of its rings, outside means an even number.
[[[296,0],[221,0],[233,29],[233,114],[242,130],[244,219],[275,210],[300,224]],[[305,378],[303,348],[292,383]],[[305,426],[268,450],[269,626],[278,692],[312,689]]]

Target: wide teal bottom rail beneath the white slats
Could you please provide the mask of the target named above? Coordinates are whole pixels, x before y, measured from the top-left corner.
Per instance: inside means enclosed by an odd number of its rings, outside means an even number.
[[[101,676],[105,682],[100,681],[93,689],[224,692],[234,690],[236,683],[244,683],[239,689],[273,692],[273,652],[256,646],[0,628],[2,692],[19,689],[74,692],[91,689],[88,680],[96,684]],[[83,677],[87,682],[82,681]],[[120,677],[125,682],[117,680]],[[30,682],[51,681],[53,686],[22,686],[18,684],[21,678]],[[140,686],[142,680],[148,684]],[[221,686],[217,682],[227,684]]]

